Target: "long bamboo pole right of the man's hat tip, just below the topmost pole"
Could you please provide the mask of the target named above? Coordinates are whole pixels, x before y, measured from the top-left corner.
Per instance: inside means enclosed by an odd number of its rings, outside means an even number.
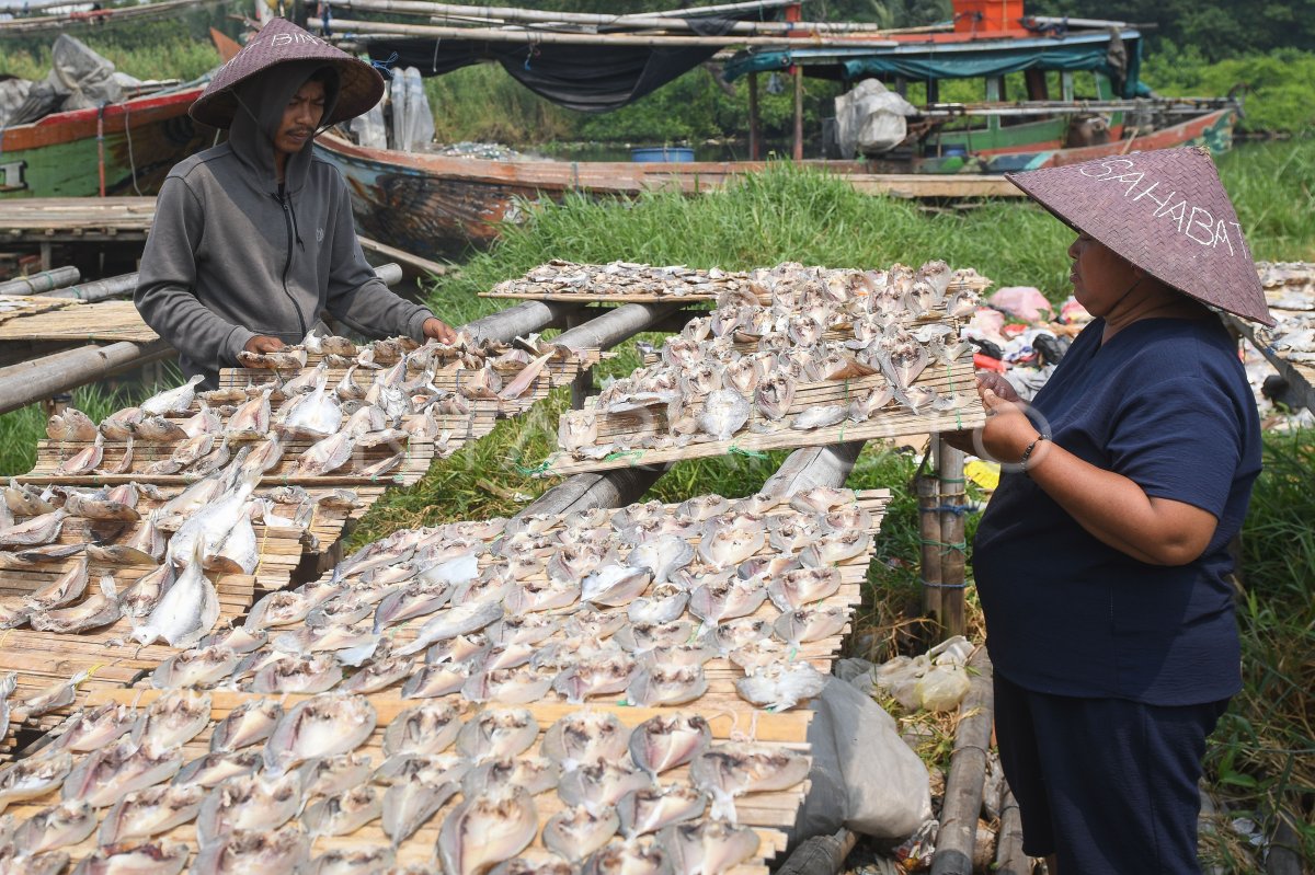
[[[888,47],[890,39],[865,39],[860,37],[802,37],[784,39],[781,37],[655,37],[648,34],[601,34],[601,33],[556,33],[547,30],[509,30],[500,28],[446,28],[441,25],[394,24],[388,21],[359,21],[334,18],[333,29],[339,38],[354,42],[376,42],[397,37],[431,37],[435,39],[471,39],[476,42],[515,42],[526,45],[559,46],[631,46],[631,47],[681,47],[681,46],[773,46],[803,43],[813,47]],[[325,28],[323,18],[309,18],[308,28]]]

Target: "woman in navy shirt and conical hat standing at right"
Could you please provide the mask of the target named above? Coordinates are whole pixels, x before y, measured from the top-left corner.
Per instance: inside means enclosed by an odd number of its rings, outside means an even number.
[[[1031,409],[978,386],[1006,473],[974,578],[1024,850],[1052,875],[1199,872],[1206,737],[1241,684],[1227,545],[1261,457],[1211,307],[1273,321],[1205,150],[1011,179],[1078,233],[1095,317]]]

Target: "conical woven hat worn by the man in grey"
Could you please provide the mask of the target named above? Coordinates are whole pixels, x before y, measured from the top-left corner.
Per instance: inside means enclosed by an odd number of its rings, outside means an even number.
[[[338,100],[321,122],[325,127],[355,118],[384,96],[384,78],[364,60],[330,46],[287,18],[271,18],[242,51],[220,67],[188,112],[203,125],[229,127],[238,109],[234,85],[276,64],[301,60],[322,60],[338,70]]]

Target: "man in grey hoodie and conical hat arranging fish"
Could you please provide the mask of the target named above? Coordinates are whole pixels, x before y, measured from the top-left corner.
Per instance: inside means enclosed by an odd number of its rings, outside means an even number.
[[[300,342],[329,313],[372,338],[451,340],[429,309],[366,261],[337,168],[312,154],[322,127],[373,106],[370,64],[275,18],[191,109],[229,139],[180,162],[160,188],[134,301],[180,353],[184,376],[216,388],[238,353]]]

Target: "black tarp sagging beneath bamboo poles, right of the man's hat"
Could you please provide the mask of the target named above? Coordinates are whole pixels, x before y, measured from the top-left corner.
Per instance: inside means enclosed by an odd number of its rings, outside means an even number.
[[[721,37],[738,20],[696,17],[686,21],[701,37]],[[481,60],[497,60],[540,97],[585,113],[619,109],[639,100],[717,51],[717,46],[667,49],[425,38],[370,43],[371,60],[416,67],[422,76],[442,76]]]

